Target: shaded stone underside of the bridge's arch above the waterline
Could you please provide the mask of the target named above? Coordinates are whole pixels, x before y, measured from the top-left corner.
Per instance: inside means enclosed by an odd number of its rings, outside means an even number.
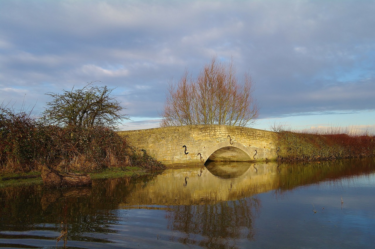
[[[225,146],[214,151],[207,158],[207,161],[248,162],[252,161],[252,158],[242,149]]]

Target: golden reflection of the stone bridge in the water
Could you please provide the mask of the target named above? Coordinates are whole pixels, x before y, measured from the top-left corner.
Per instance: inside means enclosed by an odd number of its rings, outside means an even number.
[[[200,168],[173,168],[136,187],[121,205],[196,205],[239,200],[278,188],[278,165],[207,163]],[[126,207],[127,208],[127,207]]]

